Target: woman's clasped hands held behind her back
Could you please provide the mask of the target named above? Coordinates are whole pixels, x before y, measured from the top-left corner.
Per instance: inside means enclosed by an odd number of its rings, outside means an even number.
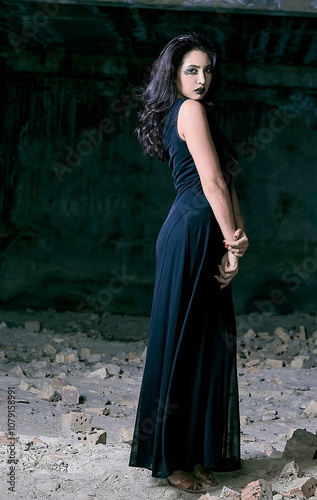
[[[224,240],[225,248],[228,250],[222,257],[218,265],[220,276],[214,276],[219,283],[220,288],[229,285],[232,278],[238,274],[239,258],[249,246],[247,235],[242,229],[237,229],[233,234],[233,241]]]

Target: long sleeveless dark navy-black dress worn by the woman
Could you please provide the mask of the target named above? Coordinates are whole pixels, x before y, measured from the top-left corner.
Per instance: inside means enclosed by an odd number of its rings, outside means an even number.
[[[231,285],[214,278],[223,236],[203,194],[186,142],[177,133],[185,99],[165,119],[164,155],[176,199],[156,245],[156,280],[147,360],[130,465],[166,477],[200,463],[241,468],[236,326]],[[231,187],[236,152],[209,121],[224,178]]]

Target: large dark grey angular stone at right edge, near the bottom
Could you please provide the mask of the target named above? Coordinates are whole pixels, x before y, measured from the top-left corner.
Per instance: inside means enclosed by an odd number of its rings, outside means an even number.
[[[296,429],[286,442],[283,459],[313,460],[317,458],[317,436],[305,429]]]

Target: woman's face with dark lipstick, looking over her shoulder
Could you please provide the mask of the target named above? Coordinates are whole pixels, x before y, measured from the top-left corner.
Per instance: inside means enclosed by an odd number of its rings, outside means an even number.
[[[209,89],[212,78],[209,55],[201,50],[185,54],[175,79],[177,97],[200,101]]]

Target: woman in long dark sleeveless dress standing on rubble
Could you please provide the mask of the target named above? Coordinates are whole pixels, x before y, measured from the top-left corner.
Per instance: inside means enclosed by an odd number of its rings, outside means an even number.
[[[230,282],[248,246],[232,186],[236,153],[210,108],[213,45],[171,40],[153,65],[137,125],[177,191],[156,245],[148,354],[130,465],[191,493],[241,468],[236,328]]]

